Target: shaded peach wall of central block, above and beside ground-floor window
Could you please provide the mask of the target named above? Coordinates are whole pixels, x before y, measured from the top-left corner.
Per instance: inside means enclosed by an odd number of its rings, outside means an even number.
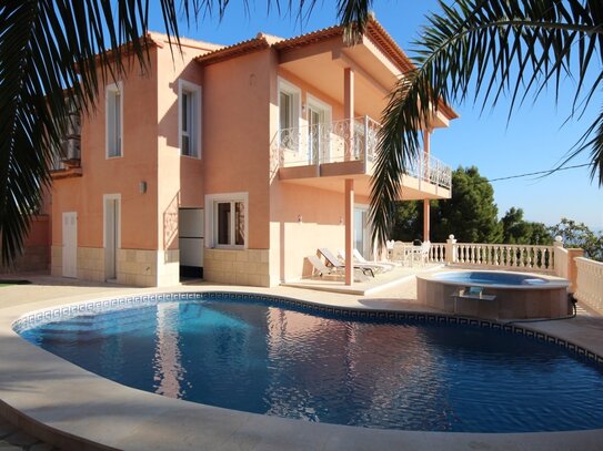
[[[249,193],[247,246],[252,249],[270,245],[269,86],[274,64],[267,50],[204,68],[204,192]]]

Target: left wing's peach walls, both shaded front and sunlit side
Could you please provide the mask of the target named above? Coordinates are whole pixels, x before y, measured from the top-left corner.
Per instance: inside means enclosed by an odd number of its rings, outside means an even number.
[[[64,212],[78,213],[78,247],[101,250],[103,195],[119,195],[120,248],[154,252],[154,257],[144,257],[157,264],[142,265],[142,285],[162,285],[162,279],[165,284],[178,281],[178,208],[200,207],[203,199],[201,161],[180,156],[178,79],[182,76],[201,85],[202,71],[192,59],[205,51],[184,45],[182,53],[174,52],[172,60],[170,48],[160,43],[150,48],[148,71],[143,73],[138,63],[127,65],[127,73],[118,76],[122,83],[120,157],[105,155],[105,88],[100,88],[96,109],[82,117],[82,176],[53,182],[52,245],[58,249],[57,256],[62,245]],[[112,80],[107,84],[111,83]],[[144,193],[139,188],[141,182],[147,184]],[[86,255],[78,252],[79,277],[87,274],[82,273],[88,265],[82,258]],[[118,264],[118,280],[138,285],[132,273],[138,269],[129,262],[130,254],[120,255],[124,259]],[[59,262],[53,267],[60,269]],[[129,280],[124,279],[124,271],[129,271]],[[94,277],[103,278],[102,274]]]

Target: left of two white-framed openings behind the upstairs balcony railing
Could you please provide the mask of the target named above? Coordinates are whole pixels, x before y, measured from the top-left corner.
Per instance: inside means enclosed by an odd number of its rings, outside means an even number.
[[[279,79],[279,139],[285,148],[299,148],[301,90]]]

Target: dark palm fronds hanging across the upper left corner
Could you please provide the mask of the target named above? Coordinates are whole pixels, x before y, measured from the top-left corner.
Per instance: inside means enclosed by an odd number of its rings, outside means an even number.
[[[281,3],[283,3],[281,8]],[[359,2],[363,3],[363,2]],[[349,23],[366,22],[369,3],[338,1]],[[160,0],[179,48],[179,19],[218,14],[229,0]],[[304,20],[315,0],[269,1]],[[243,1],[248,9],[248,0]],[[364,14],[362,18],[360,14]],[[124,55],[148,64],[148,0],[3,0],[0,3],[0,248],[2,264],[22,249],[31,216],[49,187],[49,167],[73,107],[94,109],[98,86],[124,70]],[[351,33],[352,35],[353,33]],[[125,45],[125,43],[129,43]],[[174,52],[174,58],[177,58]]]

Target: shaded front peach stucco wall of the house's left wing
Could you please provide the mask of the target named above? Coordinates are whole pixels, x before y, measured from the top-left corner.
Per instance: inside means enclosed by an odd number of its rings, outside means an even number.
[[[150,52],[155,64],[155,51]],[[63,212],[78,212],[78,246],[103,246],[103,195],[121,195],[121,246],[152,249],[157,246],[157,188],[149,184],[139,193],[139,182],[150,181],[157,171],[157,72],[140,76],[132,68],[120,76],[123,85],[122,156],[105,156],[105,91],[83,115],[81,127],[82,176],[53,182],[52,243],[61,244]],[[109,82],[108,84],[110,84]],[[144,112],[141,114],[140,112]],[[141,227],[141,224],[144,224]]]

